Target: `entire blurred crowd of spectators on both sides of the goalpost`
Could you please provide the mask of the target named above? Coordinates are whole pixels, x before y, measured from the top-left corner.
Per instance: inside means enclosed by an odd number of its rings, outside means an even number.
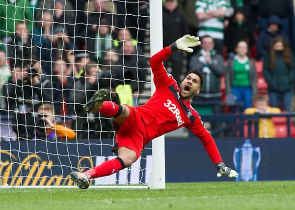
[[[229,98],[241,105],[232,112],[253,106],[260,97],[255,63],[262,61],[264,96],[271,107],[291,111],[293,6],[291,0],[163,0],[163,46],[187,33],[202,43],[164,65],[178,83],[189,69],[200,70],[205,82],[193,102],[220,113]],[[35,113],[48,103],[56,118],[74,116],[78,138],[112,137],[111,120],[87,115],[82,105],[101,88],[111,90],[109,100],[138,105],[149,69],[148,7],[148,0],[0,0],[0,109]]]

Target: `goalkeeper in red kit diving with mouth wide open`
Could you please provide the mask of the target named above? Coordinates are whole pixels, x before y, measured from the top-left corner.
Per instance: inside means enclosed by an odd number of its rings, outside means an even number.
[[[156,91],[142,106],[131,107],[106,101],[109,90],[98,90],[84,105],[86,112],[100,112],[111,117],[116,128],[116,143],[112,149],[117,158],[107,160],[85,172],[72,172],[71,179],[78,187],[89,187],[89,179],[105,177],[131,166],[144,147],[154,138],[181,127],[188,128],[202,142],[217,169],[217,177],[237,178],[236,171],[226,167],[211,134],[190,100],[201,91],[203,76],[197,69],[190,70],[178,87],[163,66],[173,52],[192,53],[191,47],[200,45],[199,37],[185,35],[150,58]],[[181,69],[179,69],[181,70]]]

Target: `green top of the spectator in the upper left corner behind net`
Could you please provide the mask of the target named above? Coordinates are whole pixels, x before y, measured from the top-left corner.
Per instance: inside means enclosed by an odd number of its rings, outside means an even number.
[[[0,0],[0,40],[9,42],[16,23],[21,21],[27,22],[28,31],[32,30],[33,13],[29,0]]]

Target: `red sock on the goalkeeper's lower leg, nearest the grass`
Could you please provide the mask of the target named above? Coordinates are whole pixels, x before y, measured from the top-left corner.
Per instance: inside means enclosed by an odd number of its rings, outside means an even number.
[[[123,161],[122,161],[123,162]],[[122,163],[119,159],[111,159],[103,162],[99,166],[96,166],[92,169],[89,169],[84,172],[88,179],[90,178],[98,178],[98,177],[105,177],[111,174],[116,173],[117,171],[123,169]]]

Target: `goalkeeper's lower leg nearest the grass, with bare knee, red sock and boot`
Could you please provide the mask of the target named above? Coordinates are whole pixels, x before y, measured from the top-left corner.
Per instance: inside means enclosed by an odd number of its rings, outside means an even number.
[[[78,187],[86,189],[89,187],[89,179],[105,177],[118,172],[119,170],[129,167],[136,161],[136,153],[125,147],[118,149],[118,157],[107,160],[102,164],[89,169],[85,172],[72,172],[71,179],[74,180]]]

